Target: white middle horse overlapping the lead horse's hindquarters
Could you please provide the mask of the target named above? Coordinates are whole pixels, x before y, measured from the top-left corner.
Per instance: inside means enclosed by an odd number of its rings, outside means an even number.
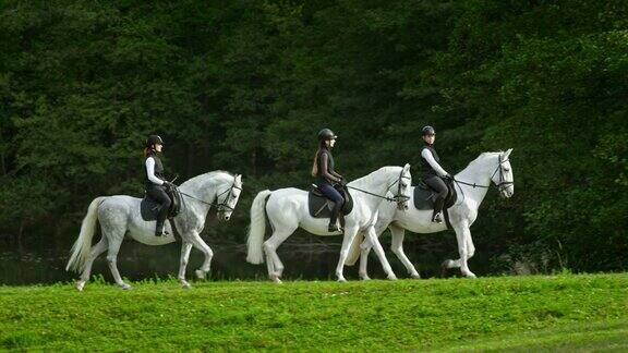
[[[389,279],[396,279],[390,265],[386,260],[384,249],[379,245],[373,226],[377,219],[377,208],[386,199],[384,195],[391,188],[395,195],[388,200],[396,200],[397,207],[408,205],[408,190],[412,184],[410,165],[401,167],[383,167],[371,174],[348,184],[353,197],[353,210],[345,216],[345,238],[340,249],[340,259],[336,268],[338,281],[346,281],[342,276],[349,247],[359,232],[366,232],[375,245],[375,252],[382,260],[382,266]],[[396,186],[396,187],[394,187]],[[387,203],[388,204],[388,203]],[[266,217],[273,227],[273,235],[264,242]],[[307,192],[299,188],[280,188],[262,191],[255,196],[251,206],[251,226],[249,228],[246,260],[251,264],[264,263],[264,254],[268,267],[268,277],[280,283],[283,264],[277,255],[277,247],[286,241],[299,227],[315,235],[339,235],[340,232],[327,231],[328,219],[310,216]]]

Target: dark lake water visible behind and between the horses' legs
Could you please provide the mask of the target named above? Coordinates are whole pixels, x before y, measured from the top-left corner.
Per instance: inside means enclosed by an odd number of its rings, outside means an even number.
[[[336,279],[335,269],[338,261],[340,244],[318,241],[312,236],[310,244],[285,243],[278,254],[286,266],[283,279],[306,279],[327,280]],[[339,239],[338,239],[339,240]],[[336,240],[336,241],[338,241]],[[266,265],[251,265],[245,261],[246,249],[241,244],[207,243],[214,251],[212,261],[213,280],[266,280]],[[439,276],[440,263],[448,256],[455,256],[457,251],[455,243],[449,242],[448,249],[425,248],[425,246],[404,246],[406,254],[414,264],[424,278]],[[383,240],[383,246],[389,248],[389,238]],[[63,247],[64,248],[64,247]],[[3,247],[0,249],[0,285],[22,285],[35,283],[53,283],[71,281],[77,275],[64,270],[68,261],[68,252],[57,249],[26,249],[22,254],[16,249]],[[407,277],[406,268],[389,249],[386,255],[395,273],[399,278]],[[179,268],[180,243],[165,246],[147,246],[133,241],[125,241],[118,256],[118,267],[123,277],[130,280],[142,280],[146,278],[167,278],[177,276]],[[192,249],[190,263],[188,265],[188,278],[193,277],[193,271],[203,263],[203,255]],[[474,258],[471,260],[472,269],[482,275],[486,272],[487,260]],[[386,278],[379,261],[371,252],[369,261],[369,272],[372,278]],[[105,254],[94,263],[93,275],[102,275],[106,280],[112,281],[111,273],[105,260]],[[458,273],[458,271],[452,271]],[[346,267],[347,279],[358,279],[358,266]]]

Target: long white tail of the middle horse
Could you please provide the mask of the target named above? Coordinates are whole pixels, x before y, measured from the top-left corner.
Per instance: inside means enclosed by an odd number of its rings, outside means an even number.
[[[257,193],[251,205],[251,224],[249,226],[249,239],[246,241],[246,261],[251,264],[264,263],[264,235],[266,233],[266,198],[273,194],[265,190]]]

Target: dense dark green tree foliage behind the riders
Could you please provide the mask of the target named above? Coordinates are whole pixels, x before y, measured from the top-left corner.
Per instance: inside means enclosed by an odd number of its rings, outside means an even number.
[[[172,174],[244,174],[242,242],[257,191],[309,185],[318,129],[352,179],[416,167],[432,124],[450,171],[515,148],[472,229],[494,271],[625,269],[627,25],[626,1],[3,1],[1,233],[67,248],[93,197],[141,195],[156,132]]]

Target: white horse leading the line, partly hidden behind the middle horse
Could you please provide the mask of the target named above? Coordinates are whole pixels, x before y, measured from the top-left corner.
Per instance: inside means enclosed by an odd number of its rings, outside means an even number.
[[[512,148],[505,153],[484,153],[454,176],[458,199],[447,212],[449,214],[451,227],[456,232],[460,258],[445,260],[443,263],[444,268],[460,268],[463,276],[475,278],[475,275],[469,270],[469,265],[467,264],[468,259],[475,253],[469,228],[478,217],[478,208],[482,204],[484,196],[486,196],[491,182],[497,185],[502,197],[511,197],[515,193],[512,167],[508,160]],[[410,209],[407,211],[398,211],[395,207],[386,204],[379,206],[379,217],[375,224],[375,232],[379,236],[386,228],[390,229],[392,252],[403,263],[411,277],[420,278],[419,272],[403,253],[404,230],[414,233],[435,233],[446,230],[447,226],[432,222],[431,209],[419,210],[413,206],[414,186],[411,187],[410,195],[412,199],[409,203]],[[364,280],[369,279],[366,264],[372,246],[369,239],[360,246],[360,277]],[[354,263],[357,257],[357,253],[352,253],[348,263]]]

